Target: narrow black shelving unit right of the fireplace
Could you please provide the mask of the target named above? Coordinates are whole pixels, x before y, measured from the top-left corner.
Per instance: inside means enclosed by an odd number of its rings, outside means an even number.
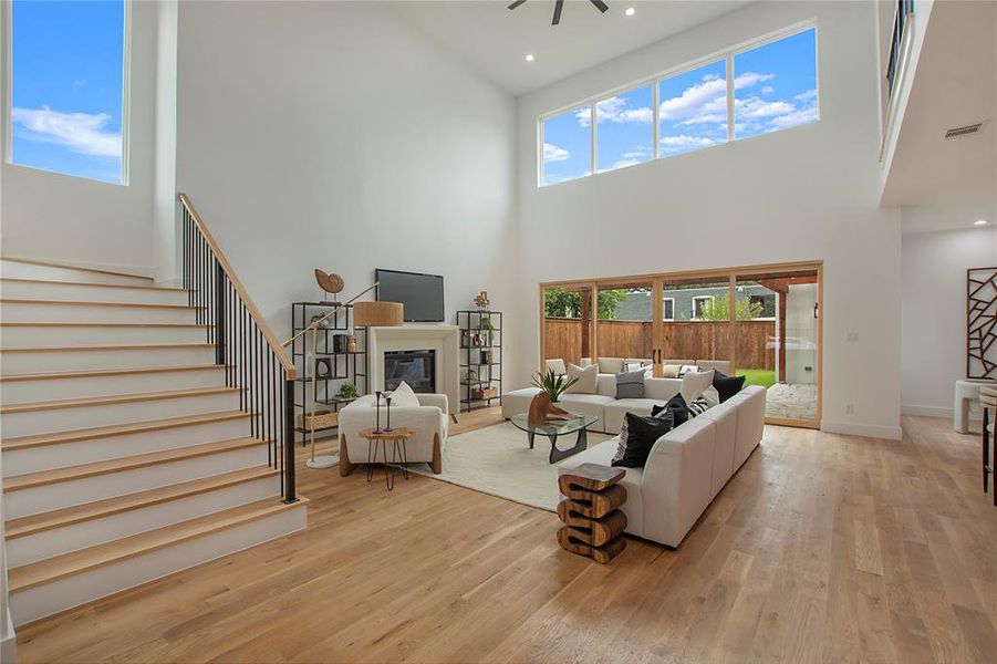
[[[487,322],[486,322],[487,321]],[[502,403],[502,312],[457,312],[460,329],[460,411]],[[495,396],[475,391],[495,390]]]

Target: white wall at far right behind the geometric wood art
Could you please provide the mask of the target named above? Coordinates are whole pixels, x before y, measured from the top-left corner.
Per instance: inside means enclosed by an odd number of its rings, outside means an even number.
[[[904,413],[952,416],[966,377],[966,270],[995,264],[994,227],[903,236]]]

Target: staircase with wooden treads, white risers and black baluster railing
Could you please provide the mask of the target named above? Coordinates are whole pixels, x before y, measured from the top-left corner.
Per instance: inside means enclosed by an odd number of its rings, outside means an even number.
[[[307,527],[293,369],[188,206],[185,288],[0,259],[15,624]]]

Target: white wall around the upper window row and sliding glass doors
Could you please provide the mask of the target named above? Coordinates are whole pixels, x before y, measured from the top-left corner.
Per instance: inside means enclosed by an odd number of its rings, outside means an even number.
[[[537,187],[539,115],[810,18],[819,123]],[[872,2],[761,2],[521,97],[521,372],[538,365],[540,281],[819,259],[823,427],[899,437],[900,222],[876,207],[876,50]]]

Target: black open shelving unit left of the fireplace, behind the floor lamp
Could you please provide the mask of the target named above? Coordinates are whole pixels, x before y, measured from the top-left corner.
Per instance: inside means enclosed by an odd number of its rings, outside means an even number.
[[[312,321],[322,318],[335,308],[334,302],[293,302],[291,304],[292,334],[307,329]],[[340,307],[329,318],[323,328],[316,331],[316,357],[326,364],[326,373],[320,375],[312,391],[312,363],[309,356],[312,351],[311,332],[302,334],[291,344],[291,360],[298,369],[294,388],[294,432],[301,434],[302,444],[308,442],[308,427],[299,426],[299,416],[312,407],[330,406],[339,412],[342,406],[354,400],[344,400],[335,395],[343,382],[351,382],[360,395],[367,393],[367,329],[353,324],[353,305]],[[346,350],[346,335],[355,338],[355,349]],[[316,428],[315,434],[329,434],[335,426]]]

